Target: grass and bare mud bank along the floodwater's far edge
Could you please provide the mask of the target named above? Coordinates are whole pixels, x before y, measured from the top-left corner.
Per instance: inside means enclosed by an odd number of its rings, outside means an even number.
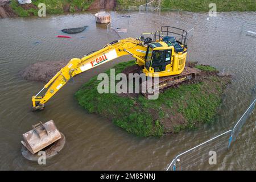
[[[9,1],[9,0],[1,0]],[[18,0],[10,0],[10,6],[0,6],[0,18],[13,16],[31,16],[38,14],[38,4],[46,4],[47,14],[74,13],[77,11],[115,9],[127,10],[130,6],[139,7],[144,5],[146,0],[33,0],[29,5],[19,5]],[[209,3],[216,3],[217,11],[256,11],[255,2],[251,0],[232,0],[226,3],[218,0],[164,0],[160,6],[162,11],[170,9],[184,11],[209,11]],[[159,6],[158,1],[151,3],[152,6]]]

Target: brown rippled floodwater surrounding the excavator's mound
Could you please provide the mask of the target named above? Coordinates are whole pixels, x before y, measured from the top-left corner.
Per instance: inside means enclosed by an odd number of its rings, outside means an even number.
[[[114,19],[127,13],[110,12]],[[134,13],[133,13],[134,14]],[[136,13],[135,13],[136,14]],[[114,126],[108,119],[89,114],[73,97],[79,87],[98,73],[130,57],[114,60],[74,78],[46,105],[46,110],[31,112],[31,96],[42,82],[23,80],[19,71],[39,61],[69,60],[102,48],[118,36],[109,35],[106,26],[96,24],[93,13],[48,15],[46,18],[0,19],[0,169],[152,169],[163,170],[180,152],[196,146],[223,131],[231,129],[251,101],[251,89],[256,82],[256,38],[245,30],[256,30],[256,13],[218,13],[207,20],[207,13],[162,13],[132,15],[114,21],[113,26],[127,28],[123,37],[138,37],[141,32],[153,32],[160,26],[176,26],[190,30],[190,61],[210,64],[221,72],[233,75],[232,84],[224,95],[216,122],[195,131],[182,131],[163,138],[138,138]],[[61,29],[89,26],[72,39],[58,39]],[[111,104],[110,104],[111,106]],[[53,119],[65,134],[66,144],[59,155],[47,160],[47,165],[24,159],[20,150],[22,134],[39,121]],[[222,161],[213,169],[256,169],[254,113]],[[206,166],[204,169],[208,169]]]

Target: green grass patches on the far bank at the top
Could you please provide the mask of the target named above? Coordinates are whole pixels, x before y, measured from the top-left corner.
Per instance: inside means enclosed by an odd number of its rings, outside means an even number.
[[[37,7],[42,2],[46,4],[47,14],[63,13],[63,5],[70,3],[70,12],[86,11],[94,0],[33,0]],[[255,0],[163,0],[162,11],[178,9],[184,11],[209,11],[209,3],[216,3],[217,11],[256,11]],[[117,0],[116,9],[128,9],[129,6],[139,6],[146,3],[146,0]],[[157,6],[157,5],[154,5]],[[17,0],[11,0],[11,8],[18,16],[37,15],[38,9],[24,10]],[[164,9],[166,8],[166,9]]]

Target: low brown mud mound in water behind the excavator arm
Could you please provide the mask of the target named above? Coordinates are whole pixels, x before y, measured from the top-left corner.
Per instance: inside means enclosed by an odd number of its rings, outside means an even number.
[[[48,82],[61,68],[68,64],[68,61],[35,63],[20,71],[19,75],[25,80]]]

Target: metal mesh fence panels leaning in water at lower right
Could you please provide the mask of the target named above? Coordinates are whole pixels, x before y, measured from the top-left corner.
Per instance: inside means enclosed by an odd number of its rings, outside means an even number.
[[[256,103],[255,90],[256,86],[253,91],[253,101],[232,130],[228,130],[177,155],[168,165],[166,170],[191,170],[194,167],[197,169],[205,169],[205,167],[210,165],[211,162],[214,163],[214,161],[210,161],[209,159],[211,155],[215,155],[217,158],[220,158],[221,154],[228,152],[230,145],[236,140],[242,126],[254,110]]]

